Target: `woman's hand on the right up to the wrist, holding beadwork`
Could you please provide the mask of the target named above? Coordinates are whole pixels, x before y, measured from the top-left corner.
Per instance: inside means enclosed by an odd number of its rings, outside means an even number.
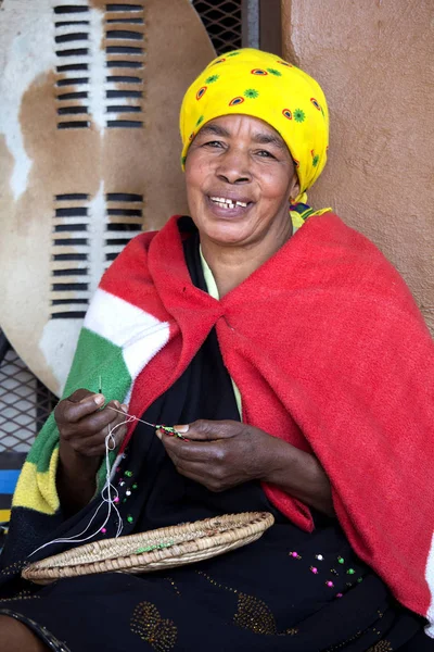
[[[210,491],[225,491],[253,479],[265,479],[272,464],[276,438],[234,421],[196,421],[175,426],[188,441],[157,430],[178,473]]]

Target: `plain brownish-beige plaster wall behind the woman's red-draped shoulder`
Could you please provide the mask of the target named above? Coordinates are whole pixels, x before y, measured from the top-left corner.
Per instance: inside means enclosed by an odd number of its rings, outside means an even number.
[[[329,100],[329,164],[310,192],[366,234],[434,333],[434,2],[282,0],[283,53]]]

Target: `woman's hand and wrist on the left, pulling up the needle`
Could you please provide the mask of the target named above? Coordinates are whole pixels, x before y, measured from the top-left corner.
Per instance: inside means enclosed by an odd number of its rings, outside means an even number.
[[[122,443],[127,426],[120,425],[125,416],[115,412],[127,411],[126,405],[111,401],[88,389],[77,389],[63,399],[54,410],[60,432],[58,491],[63,509],[75,513],[93,497],[95,474],[105,452],[105,438],[113,431],[115,446]],[[115,410],[111,410],[110,408]],[[116,427],[118,426],[118,427]]]

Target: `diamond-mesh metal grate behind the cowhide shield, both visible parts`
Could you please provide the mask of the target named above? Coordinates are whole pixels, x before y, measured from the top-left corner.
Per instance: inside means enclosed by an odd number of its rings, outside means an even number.
[[[242,47],[243,3],[245,0],[192,0],[217,54]],[[56,402],[15,351],[9,349],[4,358],[0,355],[0,453],[27,452]]]

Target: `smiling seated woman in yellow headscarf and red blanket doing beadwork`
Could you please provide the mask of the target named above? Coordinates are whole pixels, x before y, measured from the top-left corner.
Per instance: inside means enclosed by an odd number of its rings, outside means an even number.
[[[135,238],[94,296],[65,398],[14,497],[1,640],[433,650],[433,343],[380,251],[306,203],[327,160],[324,96],[278,57],[238,50],[188,89],[180,127],[191,216]],[[97,509],[108,431],[107,521]],[[119,525],[129,535],[248,511],[276,523],[197,564],[20,579],[29,559]]]

